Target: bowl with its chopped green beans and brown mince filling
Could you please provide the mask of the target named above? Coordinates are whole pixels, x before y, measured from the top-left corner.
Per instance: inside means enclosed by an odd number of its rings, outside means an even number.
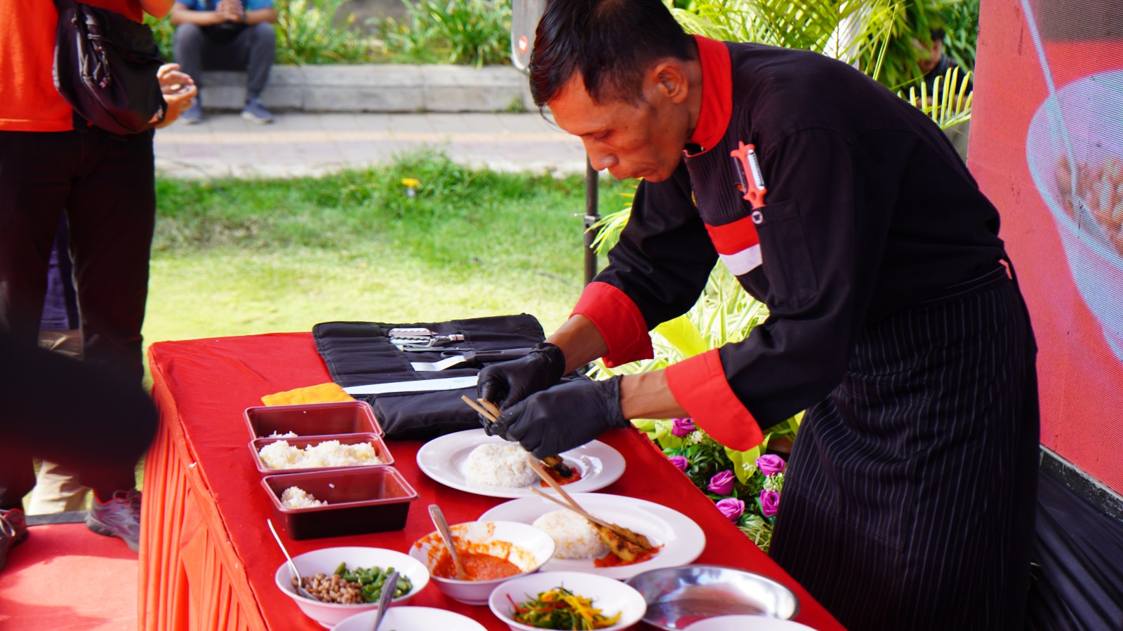
[[[287,563],[277,567],[274,582],[302,612],[329,629],[345,618],[378,609],[386,576],[395,569],[399,579],[390,602],[392,605],[408,601],[429,584],[424,564],[383,548],[322,548],[296,555],[292,563],[300,570],[304,588],[318,600],[311,601],[296,593]]]

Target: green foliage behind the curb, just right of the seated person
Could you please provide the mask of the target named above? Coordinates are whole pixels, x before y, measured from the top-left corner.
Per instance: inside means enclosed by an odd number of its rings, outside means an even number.
[[[277,0],[279,64],[338,64],[369,61],[369,45],[351,28],[355,15],[337,22],[346,0]]]

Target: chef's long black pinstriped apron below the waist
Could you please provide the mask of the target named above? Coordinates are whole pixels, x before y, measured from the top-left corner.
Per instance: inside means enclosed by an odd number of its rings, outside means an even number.
[[[1008,280],[865,328],[803,420],[772,543],[847,629],[1022,629],[1034,358]]]

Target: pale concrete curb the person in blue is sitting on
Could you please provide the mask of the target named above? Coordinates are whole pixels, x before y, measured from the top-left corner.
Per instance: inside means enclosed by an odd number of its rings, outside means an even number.
[[[207,110],[240,110],[243,72],[204,72]],[[527,77],[513,66],[321,65],[273,66],[262,94],[266,108],[305,112],[535,111]]]

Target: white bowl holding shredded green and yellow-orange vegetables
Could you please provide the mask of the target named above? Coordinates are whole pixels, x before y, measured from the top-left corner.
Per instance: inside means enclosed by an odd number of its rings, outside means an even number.
[[[605,615],[615,615],[620,612],[620,620],[612,627],[605,627],[605,630],[627,629],[639,622],[647,611],[643,596],[634,588],[615,578],[581,571],[539,571],[512,578],[492,592],[487,606],[513,631],[536,631],[536,628],[529,624],[514,621],[511,615],[511,601],[524,603],[539,593],[558,586],[576,595],[592,598],[593,606]]]

